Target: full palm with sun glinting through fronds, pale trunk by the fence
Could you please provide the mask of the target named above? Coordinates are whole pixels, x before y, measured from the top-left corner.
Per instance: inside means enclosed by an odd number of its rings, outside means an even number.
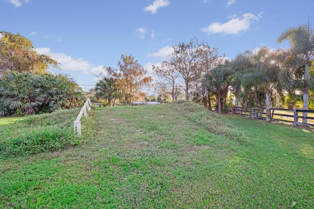
[[[257,98],[257,85],[265,93],[266,121],[271,120],[270,108],[273,92],[276,90],[279,95],[283,96],[284,82],[289,80],[285,64],[287,54],[285,50],[271,52],[268,47],[263,46],[254,56],[237,56],[233,63],[233,68],[237,71],[235,77],[244,90],[254,87],[254,103]],[[253,62],[255,64],[252,64]],[[288,83],[285,86],[288,86]]]

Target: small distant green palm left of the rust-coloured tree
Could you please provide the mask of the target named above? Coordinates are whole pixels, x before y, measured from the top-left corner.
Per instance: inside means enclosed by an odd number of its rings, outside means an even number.
[[[117,88],[117,81],[114,78],[104,77],[103,80],[97,82],[96,87],[96,97],[107,99],[108,106],[111,106],[112,99],[119,98],[118,88]]]

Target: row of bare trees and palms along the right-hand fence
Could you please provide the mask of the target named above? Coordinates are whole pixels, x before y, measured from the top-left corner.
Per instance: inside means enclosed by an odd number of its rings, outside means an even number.
[[[172,101],[184,91],[185,100],[201,102],[210,110],[214,103],[219,113],[228,109],[232,94],[235,104],[266,107],[266,120],[276,102],[293,107],[301,101],[304,110],[314,109],[314,30],[310,25],[288,28],[277,41],[285,40],[289,49],[263,46],[231,61],[196,38],[180,43],[167,60],[153,67],[160,78],[155,88],[159,97],[170,95]]]

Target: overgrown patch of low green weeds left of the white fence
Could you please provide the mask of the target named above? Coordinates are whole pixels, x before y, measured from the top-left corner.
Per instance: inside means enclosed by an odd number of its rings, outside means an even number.
[[[78,144],[73,121],[79,108],[51,114],[27,116],[0,133],[0,156],[28,155],[63,149]]]

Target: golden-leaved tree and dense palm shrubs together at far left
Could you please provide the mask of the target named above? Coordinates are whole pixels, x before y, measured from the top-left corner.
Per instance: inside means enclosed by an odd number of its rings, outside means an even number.
[[[57,61],[38,54],[19,33],[0,35],[0,116],[50,113],[84,103],[84,93],[73,78],[47,71],[60,69]]]

